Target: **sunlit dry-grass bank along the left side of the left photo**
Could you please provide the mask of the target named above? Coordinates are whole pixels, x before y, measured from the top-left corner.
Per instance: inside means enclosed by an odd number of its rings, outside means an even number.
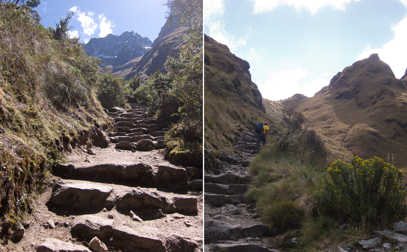
[[[99,61],[68,38],[68,22],[44,28],[30,7],[0,5],[0,215],[31,213],[52,164],[111,124],[95,94]]]

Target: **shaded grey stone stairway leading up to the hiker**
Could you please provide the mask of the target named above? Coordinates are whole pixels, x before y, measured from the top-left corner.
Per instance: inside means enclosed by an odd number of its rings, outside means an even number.
[[[221,167],[204,172],[205,251],[276,251],[269,246],[274,239],[269,227],[261,223],[257,210],[243,199],[253,179],[247,167],[258,153],[255,134],[242,131],[236,140],[235,149],[241,155],[222,151],[223,155],[218,156]]]

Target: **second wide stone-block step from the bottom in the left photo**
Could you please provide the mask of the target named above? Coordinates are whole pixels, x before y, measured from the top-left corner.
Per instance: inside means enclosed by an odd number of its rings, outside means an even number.
[[[62,180],[55,184],[50,202],[60,210],[137,210],[152,213],[197,214],[197,197],[165,193],[154,188],[131,188],[80,180]]]

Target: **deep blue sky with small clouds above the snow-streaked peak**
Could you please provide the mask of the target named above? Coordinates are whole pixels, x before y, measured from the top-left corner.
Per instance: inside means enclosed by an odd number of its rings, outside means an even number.
[[[125,31],[134,31],[152,42],[166,19],[165,0],[41,0],[36,8],[44,27],[55,27],[59,18],[74,11],[71,29],[72,35],[82,37],[87,43],[92,37],[105,37],[107,34],[120,35]]]

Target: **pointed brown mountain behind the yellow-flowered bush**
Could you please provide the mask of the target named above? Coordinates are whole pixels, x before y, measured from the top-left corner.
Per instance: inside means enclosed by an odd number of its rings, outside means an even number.
[[[300,98],[300,99],[299,99]],[[407,166],[407,93],[378,54],[357,61],[308,98],[281,101],[304,113],[326,136],[333,158],[378,156],[399,169]]]

